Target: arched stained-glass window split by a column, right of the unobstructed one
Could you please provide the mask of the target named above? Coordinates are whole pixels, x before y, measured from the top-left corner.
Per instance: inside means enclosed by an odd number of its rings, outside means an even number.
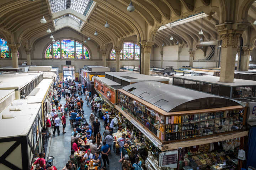
[[[120,52],[120,59],[123,60],[139,60],[140,47],[133,42],[124,42],[123,50]],[[112,49],[110,59],[116,60],[116,51]]]

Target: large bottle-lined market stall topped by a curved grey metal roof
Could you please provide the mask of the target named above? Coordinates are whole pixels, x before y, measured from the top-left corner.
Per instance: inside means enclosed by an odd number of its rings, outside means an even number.
[[[178,148],[208,146],[212,142],[234,138],[243,141],[244,136],[248,135],[248,131],[243,129],[246,107],[226,98],[177,86],[150,81],[125,86],[118,89],[115,107],[138,129],[138,138],[144,135],[144,138],[139,140],[144,142],[137,142],[137,145],[147,146],[145,138],[150,141],[150,152],[146,158],[148,169],[177,168],[178,158],[183,165],[185,154],[180,154]],[[167,155],[175,155],[175,161],[164,163],[162,160]],[[222,165],[221,160],[206,162],[207,167],[216,163]],[[206,168],[198,164],[199,169]]]

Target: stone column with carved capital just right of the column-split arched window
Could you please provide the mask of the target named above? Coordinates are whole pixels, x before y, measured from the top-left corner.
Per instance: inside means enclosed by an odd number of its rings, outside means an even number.
[[[144,41],[141,42],[142,47],[143,47],[143,72],[142,74],[145,75],[150,75],[150,53],[151,53],[151,48],[154,45],[153,41]]]

